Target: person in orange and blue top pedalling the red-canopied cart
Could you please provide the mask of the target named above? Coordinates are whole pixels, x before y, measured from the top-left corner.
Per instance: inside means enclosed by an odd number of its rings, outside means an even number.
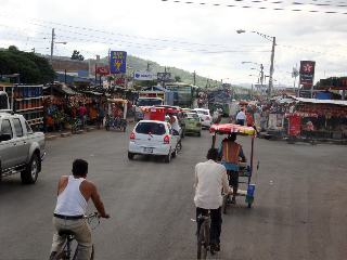
[[[243,153],[242,145],[236,142],[236,133],[232,132],[228,139],[224,139],[219,147],[218,154],[222,156],[221,164],[228,170],[229,185],[232,186],[232,204],[236,204],[236,193],[239,188],[239,157],[242,161],[247,161],[246,156]]]

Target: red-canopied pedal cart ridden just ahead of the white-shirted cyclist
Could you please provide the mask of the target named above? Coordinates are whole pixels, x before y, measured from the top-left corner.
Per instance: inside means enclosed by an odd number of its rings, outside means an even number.
[[[242,191],[239,187],[236,196],[243,196],[246,197],[245,203],[248,204],[248,208],[250,208],[253,202],[254,202],[254,192],[255,192],[255,183],[252,183],[252,177],[253,177],[253,155],[254,155],[254,140],[256,138],[256,130],[253,127],[244,127],[240,125],[233,125],[233,123],[217,123],[213,125],[209,128],[209,132],[213,134],[213,145],[211,147],[215,148],[216,146],[216,134],[230,134],[232,132],[237,133],[237,135],[248,135],[252,139],[252,151],[250,151],[250,159],[249,165],[244,165],[245,162],[241,162],[239,166],[239,177],[245,177],[246,181],[239,181],[239,184],[242,184],[241,187],[245,186],[246,191]],[[259,168],[259,162],[257,165],[257,169]],[[223,205],[222,209],[223,212],[227,212],[228,208],[228,200],[230,199],[230,196],[224,195],[223,196]]]

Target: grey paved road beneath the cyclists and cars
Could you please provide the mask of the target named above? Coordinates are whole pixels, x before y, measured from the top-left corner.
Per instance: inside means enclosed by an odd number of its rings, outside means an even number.
[[[92,231],[95,259],[194,259],[194,166],[205,160],[208,131],[183,139],[170,164],[127,158],[130,130],[93,131],[47,142],[35,185],[0,184],[0,259],[47,259],[57,180],[75,158],[89,161],[112,219]],[[220,142],[222,136],[218,136]],[[239,138],[246,155],[250,139]],[[218,259],[344,259],[347,246],[345,146],[255,140],[255,203],[242,198],[223,216]],[[249,156],[248,156],[249,158]],[[94,211],[92,203],[88,212]]]

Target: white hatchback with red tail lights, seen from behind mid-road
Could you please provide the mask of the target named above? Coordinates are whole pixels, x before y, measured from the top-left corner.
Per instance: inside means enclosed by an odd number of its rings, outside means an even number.
[[[164,155],[165,162],[169,162],[177,152],[177,138],[166,121],[141,120],[131,132],[129,159],[133,159],[134,155]]]

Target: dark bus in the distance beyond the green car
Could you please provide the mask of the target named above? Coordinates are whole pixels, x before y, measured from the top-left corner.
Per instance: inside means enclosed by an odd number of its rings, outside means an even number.
[[[174,105],[192,108],[197,87],[182,82],[166,83],[165,88],[174,92]]]

